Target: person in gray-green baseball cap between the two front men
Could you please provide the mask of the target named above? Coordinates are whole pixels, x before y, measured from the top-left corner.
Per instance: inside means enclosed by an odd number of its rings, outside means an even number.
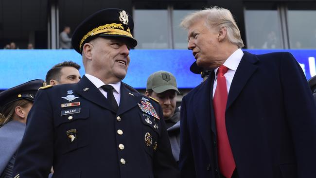
[[[172,153],[176,161],[180,153],[180,110],[176,107],[176,95],[180,93],[176,77],[168,71],[157,71],[147,79],[145,95],[162,107],[167,125]]]

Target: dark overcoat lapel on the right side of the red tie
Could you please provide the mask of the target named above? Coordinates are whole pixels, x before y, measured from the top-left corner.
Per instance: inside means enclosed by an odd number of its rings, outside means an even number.
[[[248,79],[257,70],[258,67],[255,65],[257,61],[259,61],[259,59],[256,57],[256,55],[244,52],[244,56],[238,65],[237,71],[229,89],[226,109],[228,109],[236,100],[246,85]]]

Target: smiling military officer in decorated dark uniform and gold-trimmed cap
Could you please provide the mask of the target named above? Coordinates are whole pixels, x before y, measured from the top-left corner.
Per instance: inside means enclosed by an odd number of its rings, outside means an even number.
[[[105,9],[72,37],[86,74],[40,89],[18,151],[15,178],[177,178],[158,103],[121,80],[130,62],[133,19]]]

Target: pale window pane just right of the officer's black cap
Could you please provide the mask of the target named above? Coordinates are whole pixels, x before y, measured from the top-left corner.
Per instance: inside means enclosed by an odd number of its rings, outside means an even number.
[[[136,49],[168,49],[167,10],[136,9],[133,15]]]

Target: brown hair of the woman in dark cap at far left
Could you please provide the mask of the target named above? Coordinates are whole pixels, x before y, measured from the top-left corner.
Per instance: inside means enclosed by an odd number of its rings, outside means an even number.
[[[0,112],[0,127],[12,120],[16,107],[27,107],[31,102],[29,100],[18,100],[4,106]]]

